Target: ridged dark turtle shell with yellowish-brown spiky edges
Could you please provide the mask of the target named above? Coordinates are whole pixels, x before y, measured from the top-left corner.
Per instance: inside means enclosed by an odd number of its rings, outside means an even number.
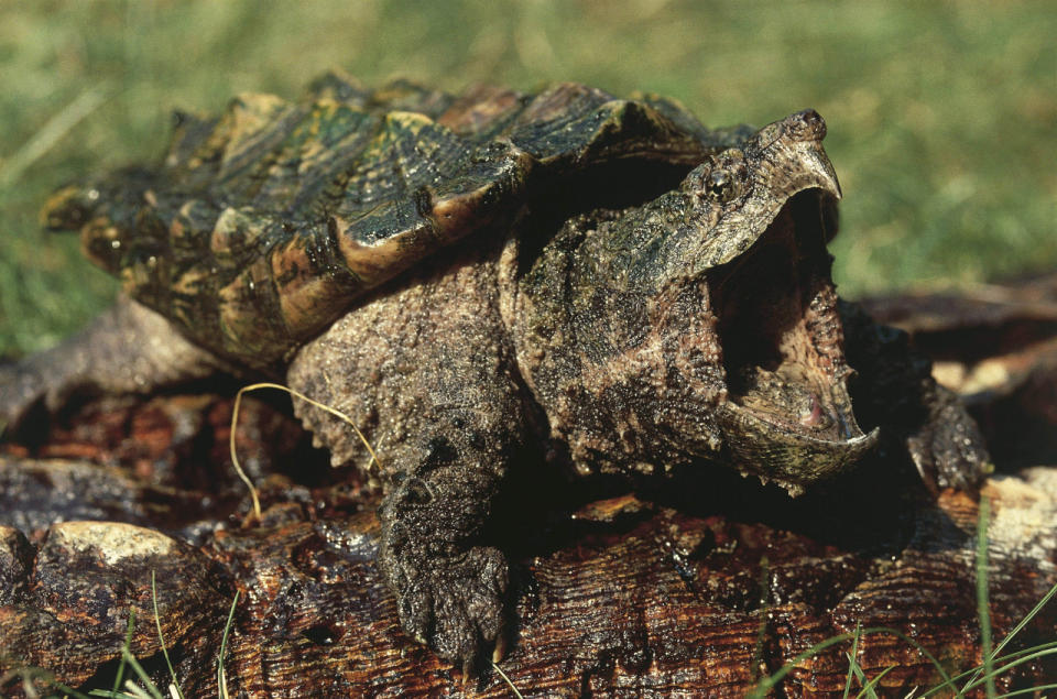
[[[270,368],[368,290],[503,230],[534,192],[618,163],[688,168],[747,134],[575,84],[451,96],[328,74],[296,102],[177,112],[160,165],[65,187],[44,218],[80,230],[92,261],[194,341]]]

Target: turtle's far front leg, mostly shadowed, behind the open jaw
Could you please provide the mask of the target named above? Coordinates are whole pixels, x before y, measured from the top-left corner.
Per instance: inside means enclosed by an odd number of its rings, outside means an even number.
[[[860,424],[895,433],[929,490],[976,491],[991,472],[980,428],[958,396],[931,376],[931,362],[915,352],[905,332],[873,323],[843,303],[846,353],[858,371],[853,386]]]

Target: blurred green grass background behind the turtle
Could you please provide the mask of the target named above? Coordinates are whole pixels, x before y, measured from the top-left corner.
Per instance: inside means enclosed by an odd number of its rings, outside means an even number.
[[[0,0],[0,358],[84,325],[116,284],[41,231],[57,185],[151,161],[174,108],[298,96],[340,67],[449,90],[577,80],[708,125],[814,107],[844,190],[846,296],[1057,266],[1050,0]]]

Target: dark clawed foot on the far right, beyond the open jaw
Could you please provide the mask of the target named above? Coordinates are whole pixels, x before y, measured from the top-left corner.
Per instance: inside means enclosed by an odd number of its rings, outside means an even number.
[[[976,492],[994,469],[977,424],[958,397],[937,387],[930,419],[907,439],[911,457],[933,492],[945,488]]]

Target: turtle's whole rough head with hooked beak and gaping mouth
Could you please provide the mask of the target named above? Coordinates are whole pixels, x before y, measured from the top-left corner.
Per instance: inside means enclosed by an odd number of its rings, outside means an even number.
[[[575,460],[704,457],[797,493],[873,447],[848,394],[825,133],[787,117],[544,251],[523,284],[530,371]]]

